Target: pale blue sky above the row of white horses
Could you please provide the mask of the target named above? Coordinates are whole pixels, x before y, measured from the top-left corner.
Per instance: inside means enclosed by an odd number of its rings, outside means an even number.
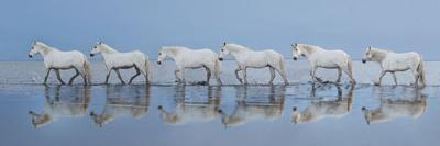
[[[102,40],[152,58],[163,45],[219,49],[223,41],[290,57],[292,43],[369,45],[439,60],[438,0],[2,0],[0,60],[30,60],[32,41],[89,53]]]

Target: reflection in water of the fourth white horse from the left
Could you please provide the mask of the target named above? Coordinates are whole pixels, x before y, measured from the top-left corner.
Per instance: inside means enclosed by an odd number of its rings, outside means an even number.
[[[238,87],[238,104],[234,111],[228,115],[223,110],[218,112],[221,115],[221,122],[224,127],[240,126],[257,120],[276,120],[283,114],[285,87],[279,87],[280,91],[275,91],[276,87],[271,86],[268,101],[250,101],[248,98],[248,88]],[[266,99],[266,97],[264,97]],[[257,97],[261,100],[261,97]]]

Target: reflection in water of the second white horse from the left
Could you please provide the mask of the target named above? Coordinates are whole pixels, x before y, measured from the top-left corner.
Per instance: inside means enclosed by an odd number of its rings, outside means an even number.
[[[134,91],[133,91],[134,90]],[[145,90],[141,93],[140,90]],[[150,106],[150,86],[127,87],[108,86],[106,89],[106,105],[100,114],[90,112],[95,124],[99,127],[121,116],[141,119],[146,115]]]

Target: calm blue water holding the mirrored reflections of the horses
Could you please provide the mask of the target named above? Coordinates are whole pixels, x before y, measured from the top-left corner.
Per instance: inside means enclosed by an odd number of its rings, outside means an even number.
[[[101,64],[96,86],[42,86],[41,64],[0,63],[9,68],[0,71],[0,145],[436,145],[440,133],[439,63],[427,64],[421,90],[405,86],[409,74],[399,75],[402,86],[371,86],[377,68],[359,63],[355,87],[314,87],[301,63],[289,63],[293,86],[238,86],[232,61],[222,87],[172,85],[170,63],[157,67],[153,86],[119,86],[114,76],[99,85]],[[268,72],[250,74],[267,81]]]

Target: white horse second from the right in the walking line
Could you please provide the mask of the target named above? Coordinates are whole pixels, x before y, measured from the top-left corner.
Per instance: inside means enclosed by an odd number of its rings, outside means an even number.
[[[308,44],[293,44],[292,47],[294,48],[294,60],[297,60],[299,56],[304,56],[310,61],[310,75],[314,82],[320,80],[316,77],[316,71],[318,68],[338,69],[337,82],[341,81],[342,71],[344,71],[351,78],[352,83],[356,82],[353,75],[352,59],[350,55],[343,50],[327,50],[319,46]]]

